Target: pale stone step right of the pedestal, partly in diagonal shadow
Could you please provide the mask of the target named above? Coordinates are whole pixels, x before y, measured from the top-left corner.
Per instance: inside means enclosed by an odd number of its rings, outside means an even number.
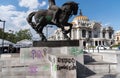
[[[91,62],[85,65],[85,73],[113,73],[116,72],[116,63]]]

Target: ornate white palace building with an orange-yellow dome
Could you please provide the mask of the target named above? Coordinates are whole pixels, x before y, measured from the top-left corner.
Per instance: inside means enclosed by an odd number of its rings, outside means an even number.
[[[103,27],[101,23],[90,21],[87,16],[76,16],[72,21],[71,40],[80,40],[83,47],[113,44],[114,30],[111,26]],[[61,29],[55,30],[50,40],[64,40]]]

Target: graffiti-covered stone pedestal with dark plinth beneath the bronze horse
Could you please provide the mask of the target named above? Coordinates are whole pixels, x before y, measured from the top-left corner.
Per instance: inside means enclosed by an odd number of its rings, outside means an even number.
[[[39,42],[38,42],[39,43]],[[79,47],[79,41],[57,41],[35,43],[35,47],[21,48],[20,62],[29,64],[39,64],[37,67],[49,63],[50,76],[48,78],[77,78],[79,74],[76,61],[84,64],[83,50]],[[40,42],[41,43],[41,42]],[[45,43],[45,44],[43,44]],[[50,45],[51,44],[51,45]],[[43,71],[43,70],[41,70]],[[77,73],[78,72],[78,73]],[[44,73],[45,74],[45,73]],[[44,78],[44,76],[42,76]]]

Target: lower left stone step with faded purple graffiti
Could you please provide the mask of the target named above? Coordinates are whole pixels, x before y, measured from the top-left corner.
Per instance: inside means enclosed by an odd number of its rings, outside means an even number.
[[[2,68],[1,71],[3,76],[49,76],[50,73],[50,65],[40,65],[40,66],[27,66],[27,67],[6,67]]]

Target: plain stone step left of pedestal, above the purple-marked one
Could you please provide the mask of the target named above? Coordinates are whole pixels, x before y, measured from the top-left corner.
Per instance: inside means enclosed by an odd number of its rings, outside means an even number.
[[[19,66],[27,66],[30,64],[49,64],[47,59],[29,59],[29,60],[20,60],[19,58],[11,58],[9,60],[0,60],[0,67],[6,67],[6,66],[13,66],[13,67],[19,67]]]

